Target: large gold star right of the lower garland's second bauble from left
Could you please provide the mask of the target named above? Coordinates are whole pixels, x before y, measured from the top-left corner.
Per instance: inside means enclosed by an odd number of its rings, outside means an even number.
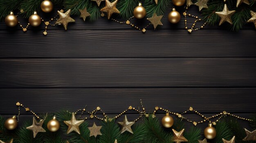
[[[76,120],[75,114],[72,113],[72,118],[70,121],[64,121],[64,123],[68,126],[67,134],[69,134],[72,131],[77,132],[80,134],[79,125],[81,125],[84,122],[84,120]]]

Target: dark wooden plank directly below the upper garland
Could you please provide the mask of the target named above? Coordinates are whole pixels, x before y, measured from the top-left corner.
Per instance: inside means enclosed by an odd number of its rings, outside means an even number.
[[[0,58],[255,57],[255,31],[0,31]],[[114,33],[113,33],[114,32]],[[38,35],[39,34],[39,35]],[[246,44],[246,46],[245,46]]]

